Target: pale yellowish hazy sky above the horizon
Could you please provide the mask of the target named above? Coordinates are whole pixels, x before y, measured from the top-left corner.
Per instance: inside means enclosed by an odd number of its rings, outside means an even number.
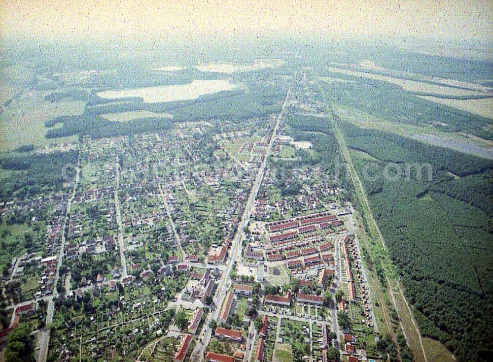
[[[323,33],[492,40],[492,0],[0,0],[3,35]]]

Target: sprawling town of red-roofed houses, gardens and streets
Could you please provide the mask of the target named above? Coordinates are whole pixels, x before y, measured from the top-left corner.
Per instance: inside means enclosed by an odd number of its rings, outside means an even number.
[[[300,89],[241,127],[65,144],[63,190],[1,204],[42,245],[3,275],[2,339],[28,323],[38,361],[386,360],[349,192],[286,122],[319,111]]]

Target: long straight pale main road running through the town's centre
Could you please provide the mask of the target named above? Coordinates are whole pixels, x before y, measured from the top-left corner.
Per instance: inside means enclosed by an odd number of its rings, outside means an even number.
[[[213,298],[214,307],[212,308],[211,313],[209,314],[209,317],[207,318],[206,323],[204,324],[204,328],[202,329],[202,332],[199,335],[199,340],[196,343],[195,349],[192,352],[191,361],[197,361],[197,362],[203,361],[204,351],[206,349],[206,346],[209,344],[212,334],[212,330],[209,327],[209,323],[211,321],[217,321],[219,319],[219,313],[221,311],[221,302],[226,296],[227,291],[231,287],[231,280],[229,274],[233,268],[234,261],[241,257],[241,244],[242,244],[241,242],[245,237],[243,229],[248,225],[248,222],[250,221],[251,211],[253,209],[255,198],[257,197],[258,191],[260,190],[260,185],[262,184],[262,180],[264,178],[265,168],[267,166],[267,159],[269,158],[272,152],[272,146],[276,139],[277,131],[279,129],[279,124],[281,123],[284,109],[289,99],[290,92],[291,89],[287,91],[286,98],[282,103],[281,112],[279,112],[279,115],[276,119],[276,125],[274,126],[274,130],[272,131],[272,135],[269,140],[269,145],[267,147],[265,157],[262,161],[262,165],[257,171],[257,175],[255,177],[255,181],[251,188],[250,195],[248,196],[248,200],[246,201],[245,211],[243,212],[242,219],[238,225],[238,229],[236,230],[235,236],[233,238],[233,242],[231,244],[231,248],[229,249],[229,258],[226,262],[226,269],[223,271],[221,275],[221,279],[219,280],[217,287],[217,292],[215,294],[215,297]]]

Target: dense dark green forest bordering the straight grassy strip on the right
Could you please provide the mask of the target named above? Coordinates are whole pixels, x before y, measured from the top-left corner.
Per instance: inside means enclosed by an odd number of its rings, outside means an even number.
[[[486,360],[493,352],[493,162],[340,126],[422,334],[461,361]],[[376,177],[365,177],[368,155]],[[417,172],[387,180],[389,163],[430,164],[432,180]]]

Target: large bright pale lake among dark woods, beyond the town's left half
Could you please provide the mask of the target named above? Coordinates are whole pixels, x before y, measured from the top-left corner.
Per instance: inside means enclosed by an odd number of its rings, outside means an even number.
[[[121,91],[104,91],[99,92],[98,96],[106,99],[141,97],[146,103],[161,103],[173,102],[176,100],[197,99],[206,94],[231,91],[236,87],[236,84],[230,83],[224,79],[194,79],[192,83],[188,84],[135,88]]]

